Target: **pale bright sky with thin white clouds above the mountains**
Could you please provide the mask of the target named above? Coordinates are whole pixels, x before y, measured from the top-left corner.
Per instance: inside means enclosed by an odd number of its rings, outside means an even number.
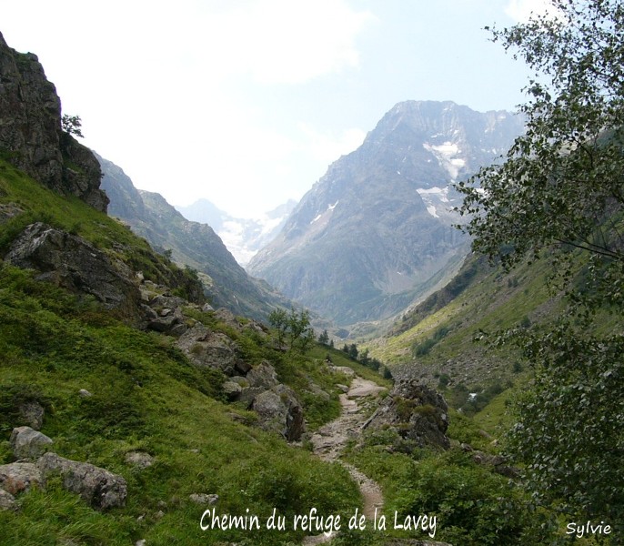
[[[547,0],[0,0],[83,144],[136,187],[236,217],[299,199],[398,102],[526,102],[485,26]]]

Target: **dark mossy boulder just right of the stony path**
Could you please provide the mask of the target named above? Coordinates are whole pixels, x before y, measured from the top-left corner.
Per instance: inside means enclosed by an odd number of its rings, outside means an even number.
[[[393,427],[419,448],[435,446],[448,450],[448,405],[442,395],[414,379],[398,381],[383,399],[365,428]]]

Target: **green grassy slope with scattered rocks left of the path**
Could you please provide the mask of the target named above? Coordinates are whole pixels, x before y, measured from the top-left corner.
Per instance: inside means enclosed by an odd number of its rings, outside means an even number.
[[[142,268],[146,276],[168,276],[171,265],[115,220],[1,165],[0,204],[7,203],[24,212],[0,226],[3,251],[21,228],[43,219]],[[251,334],[232,332],[210,314],[196,319],[237,338],[252,364],[270,359],[280,379],[304,399],[312,428],[337,415],[335,383],[344,378],[327,373],[325,349],[290,359]],[[25,493],[20,511],[0,512],[0,543],[270,544],[300,538],[292,531],[202,532],[204,507],[189,501],[191,493],[218,494],[222,513],[240,515],[248,508],[267,517],[276,507],[287,520],[311,507],[350,514],[357,506],[359,492],[346,470],[254,427],[254,414],[223,401],[223,378],[190,365],[172,339],[132,329],[88,298],[5,264],[0,324],[0,463],[12,460],[8,437],[22,424],[16,407],[37,399],[46,408],[42,431],[55,440],[59,455],[118,472],[128,482],[126,508],[106,513],[54,483]],[[328,401],[307,394],[310,379],[327,391]],[[79,397],[79,389],[93,397]],[[125,462],[131,450],[150,453],[156,463],[136,470]]]

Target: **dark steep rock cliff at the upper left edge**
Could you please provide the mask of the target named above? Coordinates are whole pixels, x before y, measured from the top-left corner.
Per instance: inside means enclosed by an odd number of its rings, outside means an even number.
[[[0,152],[39,183],[106,212],[96,157],[62,130],[61,101],[32,53],[0,35]]]

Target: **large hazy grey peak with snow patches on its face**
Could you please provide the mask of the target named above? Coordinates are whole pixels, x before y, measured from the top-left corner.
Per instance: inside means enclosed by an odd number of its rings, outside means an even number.
[[[452,102],[394,106],[332,164],[247,270],[349,325],[387,318],[465,256],[452,184],[507,151],[518,116]]]

